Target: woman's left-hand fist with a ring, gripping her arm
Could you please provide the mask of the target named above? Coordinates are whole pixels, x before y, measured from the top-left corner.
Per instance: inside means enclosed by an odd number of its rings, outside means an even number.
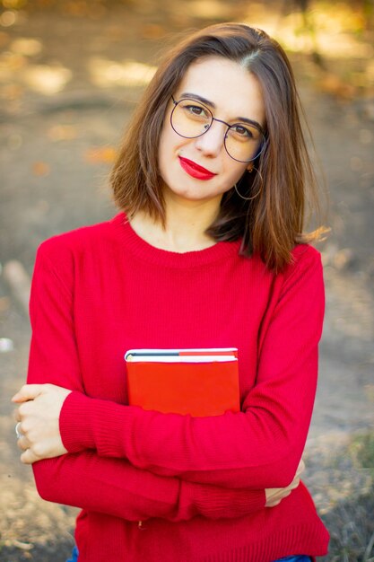
[[[21,461],[24,464],[67,452],[61,440],[59,417],[70,392],[54,384],[25,384],[14,394],[12,401],[21,403],[15,418],[21,422],[22,437],[17,443],[23,451]]]

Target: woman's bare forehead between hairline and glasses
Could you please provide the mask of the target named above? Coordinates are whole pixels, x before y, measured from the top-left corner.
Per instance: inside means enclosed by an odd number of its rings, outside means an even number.
[[[227,119],[247,117],[265,124],[265,105],[257,77],[223,57],[206,57],[187,68],[177,96],[194,93],[211,101],[215,112]]]

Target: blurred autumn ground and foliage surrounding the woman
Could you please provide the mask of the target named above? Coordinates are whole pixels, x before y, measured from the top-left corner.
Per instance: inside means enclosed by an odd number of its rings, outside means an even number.
[[[63,562],[74,544],[75,510],[40,500],[18,461],[9,401],[35,251],[116,213],[110,167],[162,52],[225,21],[280,41],[314,137],[331,232],[317,246],[326,324],[305,481],[332,535],[323,559],[374,560],[374,0],[1,0],[1,561]]]

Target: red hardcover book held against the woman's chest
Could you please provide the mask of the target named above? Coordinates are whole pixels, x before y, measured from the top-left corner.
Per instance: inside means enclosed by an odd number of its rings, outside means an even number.
[[[238,349],[129,349],[129,404],[163,413],[220,416],[239,411]]]

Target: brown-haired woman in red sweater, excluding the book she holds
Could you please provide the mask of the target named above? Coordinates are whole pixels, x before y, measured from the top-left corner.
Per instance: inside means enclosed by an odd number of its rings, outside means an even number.
[[[40,496],[83,508],[79,562],[325,554],[298,486],[324,289],[317,233],[302,234],[312,170],[282,48],[234,23],[187,38],[111,180],[121,213],[38,252],[29,385],[13,400]],[[128,406],[135,347],[238,347],[241,411]]]

